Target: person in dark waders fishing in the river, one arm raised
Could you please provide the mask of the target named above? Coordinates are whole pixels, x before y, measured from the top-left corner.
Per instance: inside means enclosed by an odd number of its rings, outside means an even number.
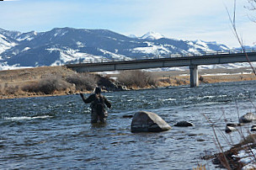
[[[105,123],[105,118],[108,116],[105,105],[111,108],[111,104],[107,98],[101,95],[101,88],[95,88],[94,93],[86,99],[83,97],[83,93],[80,93],[80,96],[85,104],[91,104],[91,123]]]

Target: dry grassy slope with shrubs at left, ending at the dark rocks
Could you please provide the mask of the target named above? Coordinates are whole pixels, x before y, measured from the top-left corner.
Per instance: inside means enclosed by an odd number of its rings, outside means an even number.
[[[73,72],[63,66],[1,71],[0,98],[87,92],[96,86],[93,77],[95,75]]]

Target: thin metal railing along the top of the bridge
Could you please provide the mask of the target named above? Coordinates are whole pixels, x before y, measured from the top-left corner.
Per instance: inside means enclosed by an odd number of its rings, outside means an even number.
[[[98,59],[83,59],[79,60],[75,63],[67,62],[67,64],[78,64],[78,63],[102,63],[102,62],[113,62],[113,61],[141,61],[141,60],[150,60],[150,59],[161,59],[161,58],[177,58],[177,57],[189,57],[189,56],[217,56],[224,54],[239,54],[239,53],[252,53],[256,52],[256,49],[239,49],[239,50],[208,50],[208,51],[200,51],[197,53],[175,53],[175,54],[166,54],[166,55],[144,55],[144,56],[120,56],[118,58],[98,58]]]

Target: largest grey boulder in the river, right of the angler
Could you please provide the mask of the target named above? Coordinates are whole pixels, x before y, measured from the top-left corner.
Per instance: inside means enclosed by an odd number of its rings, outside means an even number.
[[[170,129],[170,125],[152,112],[137,112],[131,121],[131,132],[159,132]]]

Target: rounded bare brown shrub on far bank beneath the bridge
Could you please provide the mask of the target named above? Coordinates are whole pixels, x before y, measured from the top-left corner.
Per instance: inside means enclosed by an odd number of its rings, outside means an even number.
[[[151,72],[143,72],[139,70],[123,71],[120,72],[117,78],[119,82],[128,87],[136,86],[138,88],[145,88],[147,86],[157,85],[157,80],[152,76]]]

